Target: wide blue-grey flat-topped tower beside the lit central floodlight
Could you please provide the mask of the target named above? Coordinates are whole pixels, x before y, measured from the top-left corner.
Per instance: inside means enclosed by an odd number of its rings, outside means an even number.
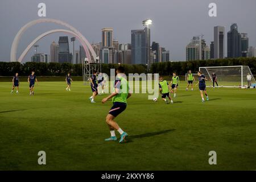
[[[148,35],[150,36],[149,32]],[[131,63],[147,64],[149,55],[147,49],[147,28],[144,28],[143,30],[131,30]]]

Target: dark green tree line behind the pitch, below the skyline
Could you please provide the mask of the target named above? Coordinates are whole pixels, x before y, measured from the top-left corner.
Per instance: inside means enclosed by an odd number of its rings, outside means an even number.
[[[256,57],[240,57],[216,60],[179,61],[151,64],[150,73],[170,76],[173,72],[177,75],[185,75],[190,69],[196,73],[199,67],[248,65],[251,72],[256,75]],[[147,67],[142,64],[122,64],[126,73],[146,73]],[[110,75],[111,68],[117,68],[118,64],[102,64],[102,72]],[[35,62],[0,62],[0,76],[13,76],[16,72],[20,76],[27,76],[34,70],[37,76],[65,76],[71,73],[73,76],[82,76],[81,64],[70,63],[35,63]]]

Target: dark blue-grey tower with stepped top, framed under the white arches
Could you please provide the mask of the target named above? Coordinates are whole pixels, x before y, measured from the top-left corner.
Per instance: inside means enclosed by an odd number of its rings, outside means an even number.
[[[72,63],[72,54],[69,53],[68,36],[59,38],[59,63]]]

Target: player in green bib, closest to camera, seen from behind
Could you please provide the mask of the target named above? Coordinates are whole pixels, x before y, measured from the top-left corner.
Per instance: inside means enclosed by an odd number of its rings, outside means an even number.
[[[115,130],[121,135],[119,143],[125,142],[125,138],[128,136],[116,122],[114,122],[114,118],[117,117],[118,114],[122,113],[126,109],[127,106],[127,98],[131,96],[129,92],[129,84],[125,79],[125,69],[123,67],[117,68],[117,77],[115,78],[114,92],[110,94],[108,97],[104,98],[101,102],[104,104],[106,101],[112,98],[113,106],[109,110],[109,114],[106,116],[106,123],[109,126],[111,137],[105,139],[105,141],[115,141],[117,137],[115,137]]]

